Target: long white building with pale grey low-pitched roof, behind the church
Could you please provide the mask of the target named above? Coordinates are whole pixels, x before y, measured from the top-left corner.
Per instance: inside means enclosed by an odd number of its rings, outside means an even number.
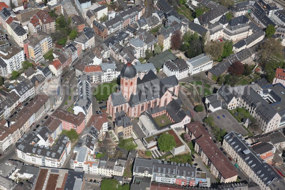
[[[211,69],[213,66],[213,58],[203,53],[188,59],[186,63],[189,67],[189,74],[192,75]]]

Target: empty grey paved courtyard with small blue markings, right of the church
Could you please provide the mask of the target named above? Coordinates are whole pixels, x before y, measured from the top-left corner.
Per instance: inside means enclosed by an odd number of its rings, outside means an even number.
[[[239,134],[247,133],[243,126],[241,126],[227,110],[219,110],[210,113],[209,116],[213,117],[216,126],[218,126],[220,129],[226,129],[228,133],[231,131],[237,132]]]

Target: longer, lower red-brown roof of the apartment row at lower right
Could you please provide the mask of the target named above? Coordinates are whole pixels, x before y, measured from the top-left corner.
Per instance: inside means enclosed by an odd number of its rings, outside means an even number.
[[[213,163],[224,179],[228,179],[237,175],[235,168],[229,163],[227,158],[219,150],[217,145],[208,137],[201,136],[196,140],[202,151]]]

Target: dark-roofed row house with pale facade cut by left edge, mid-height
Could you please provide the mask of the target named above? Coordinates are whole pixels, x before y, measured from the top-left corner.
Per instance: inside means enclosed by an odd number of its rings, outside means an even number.
[[[21,104],[20,96],[16,92],[0,91],[0,96],[3,98],[0,101],[0,119],[5,119],[12,114]]]

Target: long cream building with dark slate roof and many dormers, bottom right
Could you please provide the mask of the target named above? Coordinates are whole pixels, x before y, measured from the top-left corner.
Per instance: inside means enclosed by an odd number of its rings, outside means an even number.
[[[223,148],[237,162],[239,167],[249,175],[251,180],[259,185],[261,190],[272,189],[271,185],[274,180],[277,182],[283,180],[282,176],[253,152],[251,146],[245,142],[240,134],[236,132],[228,133],[224,137]]]

